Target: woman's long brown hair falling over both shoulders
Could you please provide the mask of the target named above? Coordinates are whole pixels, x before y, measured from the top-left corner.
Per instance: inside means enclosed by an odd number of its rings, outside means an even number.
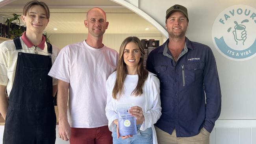
[[[144,49],[141,44],[141,41],[137,37],[127,37],[124,39],[120,46],[119,50],[119,60],[117,65],[117,79],[115,80],[115,85],[112,91],[112,96],[115,100],[119,100],[121,98],[122,94],[124,93],[124,79],[127,75],[127,68],[126,64],[124,63],[124,48],[129,42],[134,42],[139,47],[139,51],[141,53],[141,58],[138,63],[137,73],[138,73],[138,83],[136,88],[132,91],[132,95],[134,96],[140,96],[143,93],[142,87],[145,82],[145,80],[148,77],[148,71],[143,68],[143,59],[144,59]]]

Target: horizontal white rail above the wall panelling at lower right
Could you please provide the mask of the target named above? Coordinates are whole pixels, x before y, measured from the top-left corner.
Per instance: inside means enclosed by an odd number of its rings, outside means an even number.
[[[256,127],[256,120],[217,120],[215,127]]]

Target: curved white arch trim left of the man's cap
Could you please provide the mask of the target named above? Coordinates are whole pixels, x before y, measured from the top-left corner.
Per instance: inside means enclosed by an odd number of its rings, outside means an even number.
[[[129,2],[126,2],[125,0],[110,0],[112,2],[115,2],[117,4],[120,4],[131,11],[134,11],[134,13],[137,13],[137,15],[143,17],[145,20],[147,20],[150,24],[152,24],[158,31],[160,31],[165,37],[169,37],[167,31],[158,23],[156,20],[154,20],[152,17],[150,17],[147,13],[139,9],[138,7],[130,4]]]

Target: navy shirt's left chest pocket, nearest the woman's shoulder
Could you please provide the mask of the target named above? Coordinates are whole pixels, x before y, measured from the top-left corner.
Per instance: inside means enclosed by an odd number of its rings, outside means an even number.
[[[167,66],[158,65],[154,67],[156,75],[160,81],[161,89],[168,89]]]

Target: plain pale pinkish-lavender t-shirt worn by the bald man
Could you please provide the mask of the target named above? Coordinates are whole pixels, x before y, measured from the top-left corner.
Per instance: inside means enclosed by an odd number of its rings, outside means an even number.
[[[85,41],[61,50],[48,75],[70,83],[68,120],[71,127],[108,125],[106,80],[116,69],[117,61],[117,51],[106,46],[92,48]]]

